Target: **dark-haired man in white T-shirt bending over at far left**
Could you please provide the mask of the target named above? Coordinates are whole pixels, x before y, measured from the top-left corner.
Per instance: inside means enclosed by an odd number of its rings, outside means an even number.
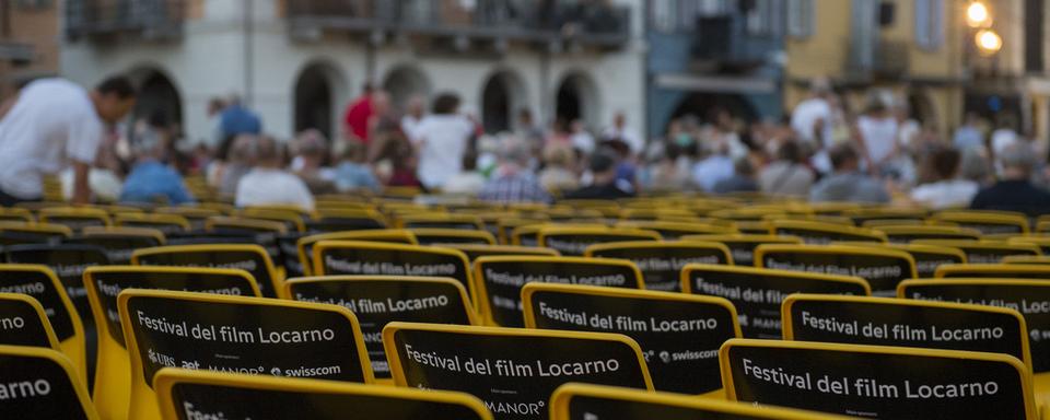
[[[44,197],[44,175],[73,167],[74,203],[91,200],[88,174],[106,126],[135,106],[135,86],[125,77],[88,91],[63,79],[42,79],[19,92],[0,115],[0,205]]]

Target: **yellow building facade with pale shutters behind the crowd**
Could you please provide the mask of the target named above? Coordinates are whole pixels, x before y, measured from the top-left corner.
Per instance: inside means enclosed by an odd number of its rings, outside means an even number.
[[[907,100],[912,117],[947,133],[962,115],[967,2],[790,0],[784,105],[828,78],[854,110],[872,88]]]

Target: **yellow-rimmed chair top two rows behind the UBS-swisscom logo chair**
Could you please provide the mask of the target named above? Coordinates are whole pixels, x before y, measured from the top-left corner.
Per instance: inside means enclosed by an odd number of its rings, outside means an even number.
[[[238,268],[252,273],[259,292],[277,298],[283,290],[277,269],[266,249],[252,244],[168,245],[137,249],[131,255],[137,266]]]

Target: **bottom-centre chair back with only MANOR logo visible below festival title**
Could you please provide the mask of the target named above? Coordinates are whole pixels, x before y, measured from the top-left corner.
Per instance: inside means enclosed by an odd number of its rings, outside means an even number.
[[[570,382],[653,388],[621,335],[394,323],[383,340],[395,384],[474,395],[497,419],[547,419]]]

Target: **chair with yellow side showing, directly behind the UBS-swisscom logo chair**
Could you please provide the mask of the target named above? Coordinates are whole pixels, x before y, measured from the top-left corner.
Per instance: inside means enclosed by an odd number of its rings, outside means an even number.
[[[245,270],[200,267],[105,266],[84,271],[84,287],[95,327],[98,357],[92,399],[106,419],[126,419],[131,393],[131,362],[120,325],[117,295],[125,289],[176,290],[258,296],[255,279]]]

